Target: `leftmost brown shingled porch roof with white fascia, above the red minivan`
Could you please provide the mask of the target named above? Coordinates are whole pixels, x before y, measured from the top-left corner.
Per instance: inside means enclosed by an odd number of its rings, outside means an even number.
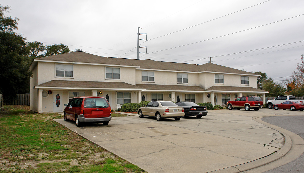
[[[139,86],[127,84],[125,82],[96,82],[96,81],[64,81],[64,80],[51,80],[43,84],[35,86],[41,87],[58,87],[58,88],[122,88],[122,89],[138,89],[143,90]]]

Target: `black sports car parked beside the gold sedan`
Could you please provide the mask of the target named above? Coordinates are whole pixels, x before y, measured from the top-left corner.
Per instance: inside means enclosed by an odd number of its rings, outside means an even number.
[[[185,117],[196,116],[197,118],[202,118],[202,116],[206,116],[208,113],[206,106],[200,106],[191,101],[179,101],[175,104],[184,108]]]

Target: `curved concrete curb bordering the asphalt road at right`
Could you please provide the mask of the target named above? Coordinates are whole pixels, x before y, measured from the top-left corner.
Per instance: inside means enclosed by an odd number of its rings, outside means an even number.
[[[270,116],[286,116],[286,115],[270,115]],[[265,156],[263,158],[259,158],[254,161],[250,161],[241,165],[236,165],[216,171],[211,171],[210,173],[262,173],[264,171],[268,171],[279,166],[285,165],[296,158],[300,157],[304,153],[304,140],[299,135],[288,131],[284,128],[278,127],[276,125],[269,124],[261,120],[263,117],[268,116],[256,116],[252,119],[261,124],[267,125],[268,127],[279,131],[285,137],[284,146],[278,150],[277,152]]]

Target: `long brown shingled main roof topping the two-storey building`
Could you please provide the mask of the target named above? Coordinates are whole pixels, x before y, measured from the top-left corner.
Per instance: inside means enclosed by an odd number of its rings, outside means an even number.
[[[79,63],[94,63],[94,64],[108,64],[108,65],[128,65],[136,68],[155,69],[155,70],[172,70],[172,71],[187,71],[187,72],[218,72],[218,73],[237,73],[256,75],[254,73],[245,72],[242,70],[217,65],[213,63],[206,63],[203,65],[178,63],[178,62],[163,62],[154,61],[151,59],[138,60],[127,58],[112,58],[93,55],[85,52],[69,52],[65,54],[47,56],[36,58],[34,61],[60,61],[60,62],[79,62]]]

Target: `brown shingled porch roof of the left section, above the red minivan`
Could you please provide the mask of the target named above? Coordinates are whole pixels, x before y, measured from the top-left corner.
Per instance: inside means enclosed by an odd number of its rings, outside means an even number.
[[[37,85],[36,89],[81,89],[81,90],[128,90],[141,91],[145,88],[125,82],[64,81],[51,80]]]

